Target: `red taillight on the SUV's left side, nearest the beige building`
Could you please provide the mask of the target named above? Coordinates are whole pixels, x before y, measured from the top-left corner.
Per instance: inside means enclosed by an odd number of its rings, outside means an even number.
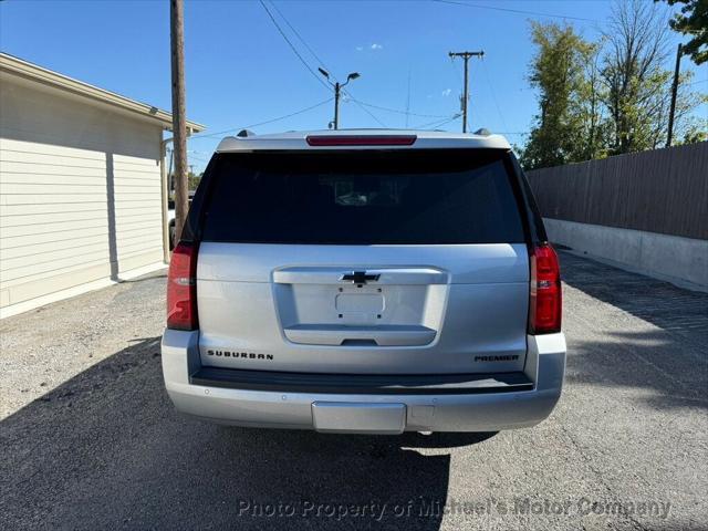
[[[167,327],[196,330],[197,246],[180,241],[173,250],[167,275]]]

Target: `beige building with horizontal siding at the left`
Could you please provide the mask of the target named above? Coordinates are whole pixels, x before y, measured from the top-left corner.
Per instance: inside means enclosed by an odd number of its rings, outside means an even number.
[[[170,128],[169,113],[0,54],[0,316],[164,266]]]

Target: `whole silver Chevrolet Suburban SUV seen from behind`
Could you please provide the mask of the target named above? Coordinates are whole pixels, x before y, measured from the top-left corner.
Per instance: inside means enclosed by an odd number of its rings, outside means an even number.
[[[565,367],[558,258],[507,140],[225,138],[167,288],[177,409],[399,434],[533,426]]]

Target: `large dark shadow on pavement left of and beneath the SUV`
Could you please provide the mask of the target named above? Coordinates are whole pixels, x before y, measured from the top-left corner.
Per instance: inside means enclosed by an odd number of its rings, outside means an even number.
[[[158,337],[0,426],[2,529],[439,529],[445,448],[490,437],[319,435],[185,418],[164,391]]]

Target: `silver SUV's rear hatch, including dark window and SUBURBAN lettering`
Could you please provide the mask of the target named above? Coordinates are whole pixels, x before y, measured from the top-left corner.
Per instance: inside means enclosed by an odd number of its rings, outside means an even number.
[[[517,372],[529,253],[503,149],[221,153],[200,194],[205,366]]]

